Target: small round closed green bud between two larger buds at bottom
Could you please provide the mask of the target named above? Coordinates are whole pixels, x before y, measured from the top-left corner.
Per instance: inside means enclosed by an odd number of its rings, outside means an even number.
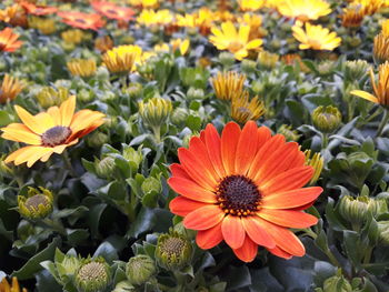
[[[131,284],[144,284],[157,272],[154,261],[146,254],[139,254],[129,260],[126,274]]]

